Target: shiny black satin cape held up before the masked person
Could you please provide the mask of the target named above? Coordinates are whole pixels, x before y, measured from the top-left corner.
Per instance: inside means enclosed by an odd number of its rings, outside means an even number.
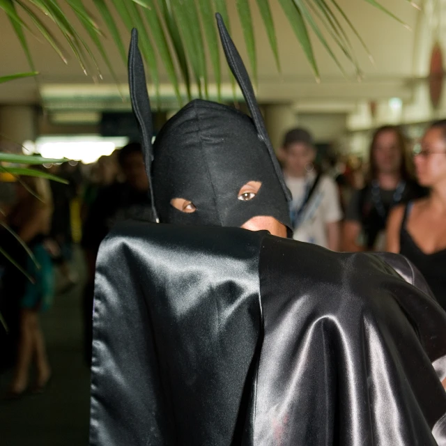
[[[428,292],[397,255],[118,226],[98,256],[90,445],[444,445]]]

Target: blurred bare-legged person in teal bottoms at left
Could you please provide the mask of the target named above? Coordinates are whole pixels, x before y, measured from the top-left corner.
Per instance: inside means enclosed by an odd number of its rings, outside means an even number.
[[[31,258],[24,262],[24,268],[33,282],[26,284],[24,295],[20,299],[20,341],[15,374],[10,384],[10,397],[20,397],[28,387],[32,360],[36,362],[37,371],[35,391],[43,391],[51,376],[45,340],[40,330],[39,312],[48,309],[54,288],[52,263],[44,247],[52,217],[52,197],[48,181],[35,177],[21,178],[17,183],[16,197],[17,202],[8,215],[8,224],[30,247],[38,265]]]

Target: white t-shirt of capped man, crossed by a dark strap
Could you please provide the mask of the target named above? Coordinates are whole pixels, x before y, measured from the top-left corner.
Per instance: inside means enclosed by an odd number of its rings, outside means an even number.
[[[303,178],[286,176],[285,180],[293,196],[291,206],[293,209],[299,209],[305,199],[305,194],[316,180],[316,174],[310,172]],[[293,238],[301,242],[328,247],[326,224],[339,222],[341,219],[342,210],[337,185],[332,178],[322,175],[301,215],[300,224],[295,229]]]

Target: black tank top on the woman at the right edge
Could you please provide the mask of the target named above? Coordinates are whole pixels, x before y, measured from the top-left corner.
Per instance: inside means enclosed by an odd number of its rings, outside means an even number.
[[[401,223],[399,253],[406,256],[424,275],[440,305],[446,309],[446,249],[426,254],[415,243],[406,229],[413,203],[408,203]]]

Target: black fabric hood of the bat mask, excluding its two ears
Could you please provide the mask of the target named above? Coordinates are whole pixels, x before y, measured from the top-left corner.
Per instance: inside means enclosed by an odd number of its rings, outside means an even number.
[[[161,222],[241,226],[256,215],[289,225],[289,207],[266,144],[252,119],[232,107],[193,100],[155,139],[152,169],[155,206]],[[240,201],[249,181],[261,182],[256,197]],[[174,198],[192,201],[183,213]]]

